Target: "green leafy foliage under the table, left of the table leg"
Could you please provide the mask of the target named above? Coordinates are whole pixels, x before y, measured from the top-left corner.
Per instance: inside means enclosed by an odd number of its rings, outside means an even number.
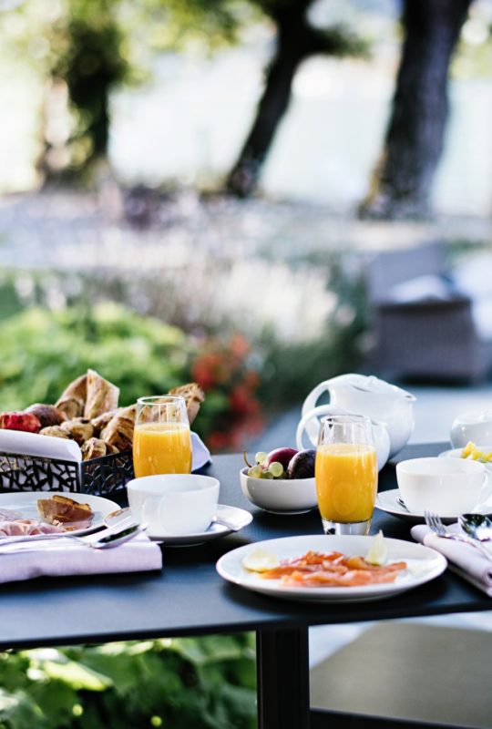
[[[2,729],[253,729],[254,638],[0,654]]]

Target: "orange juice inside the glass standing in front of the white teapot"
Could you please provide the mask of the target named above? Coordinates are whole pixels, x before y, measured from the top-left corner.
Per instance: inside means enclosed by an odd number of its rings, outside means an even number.
[[[374,447],[352,443],[319,446],[315,476],[323,519],[343,524],[371,519],[377,491]]]

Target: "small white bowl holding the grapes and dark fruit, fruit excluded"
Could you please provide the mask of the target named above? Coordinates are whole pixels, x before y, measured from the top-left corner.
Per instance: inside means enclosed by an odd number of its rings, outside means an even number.
[[[314,478],[253,478],[246,467],[240,478],[251,504],[272,514],[303,514],[318,504]]]

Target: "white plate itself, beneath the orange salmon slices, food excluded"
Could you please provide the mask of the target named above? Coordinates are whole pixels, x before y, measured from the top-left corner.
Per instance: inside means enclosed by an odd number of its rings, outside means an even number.
[[[243,558],[251,551],[266,549],[280,560],[301,557],[309,549],[317,551],[341,551],[348,555],[364,555],[373,537],[355,536],[311,536],[267,539],[232,549],[220,557],[217,571],[224,580],[261,592],[265,595],[302,602],[357,602],[379,600],[398,592],[410,590],[424,582],[434,580],[446,570],[446,559],[435,549],[400,539],[384,539],[388,548],[388,562],[405,560],[407,569],[399,574],[395,582],[357,587],[285,587],[281,580],[264,580],[258,573],[242,567]]]

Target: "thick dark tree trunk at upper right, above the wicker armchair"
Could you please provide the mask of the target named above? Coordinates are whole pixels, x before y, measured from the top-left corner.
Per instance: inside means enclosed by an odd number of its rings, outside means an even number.
[[[361,217],[417,218],[444,146],[451,56],[472,0],[405,0],[405,42],[384,150]]]

